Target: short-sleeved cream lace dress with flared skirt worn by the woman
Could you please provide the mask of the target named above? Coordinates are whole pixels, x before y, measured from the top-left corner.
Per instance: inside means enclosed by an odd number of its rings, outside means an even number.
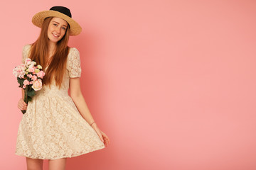
[[[30,48],[31,45],[23,47],[23,63]],[[50,88],[43,86],[28,102],[18,126],[15,154],[33,159],[59,159],[105,147],[68,95],[70,78],[80,74],[80,54],[72,47],[61,88],[53,81]]]

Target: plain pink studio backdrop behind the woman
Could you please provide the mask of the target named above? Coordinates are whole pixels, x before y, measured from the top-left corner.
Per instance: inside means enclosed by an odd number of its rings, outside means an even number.
[[[22,113],[12,69],[38,37],[33,15],[55,5],[83,28],[69,45],[80,50],[82,93],[112,142],[68,159],[67,169],[256,169],[252,0],[1,2],[0,169],[26,169],[14,154]]]

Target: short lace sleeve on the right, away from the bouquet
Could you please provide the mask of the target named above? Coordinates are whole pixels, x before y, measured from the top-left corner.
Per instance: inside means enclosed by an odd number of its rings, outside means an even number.
[[[70,78],[81,77],[80,52],[75,47],[68,54],[68,75]]]

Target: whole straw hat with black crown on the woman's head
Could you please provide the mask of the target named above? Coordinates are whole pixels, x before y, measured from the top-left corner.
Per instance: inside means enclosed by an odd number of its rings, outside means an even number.
[[[73,20],[73,18],[71,18],[72,16],[69,8],[64,6],[53,6],[49,11],[41,11],[36,13],[36,15],[32,18],[32,23],[41,28],[43,21],[51,16],[62,18],[63,20],[67,21],[70,25],[70,35],[78,35],[81,33],[82,28],[77,22],[75,22],[75,20]]]

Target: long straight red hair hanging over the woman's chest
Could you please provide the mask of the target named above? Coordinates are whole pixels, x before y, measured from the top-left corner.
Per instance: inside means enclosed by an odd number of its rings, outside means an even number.
[[[50,85],[54,77],[55,84],[60,88],[65,74],[68,52],[70,49],[70,47],[68,47],[69,26],[67,27],[63,38],[57,42],[53,57],[48,61],[48,26],[52,18],[53,17],[48,17],[43,21],[41,33],[36,42],[33,42],[31,45],[29,58],[35,61],[36,64],[40,64],[43,67],[43,71],[46,72],[45,77],[43,77],[43,84]],[[46,69],[48,62],[50,62],[50,64]]]

